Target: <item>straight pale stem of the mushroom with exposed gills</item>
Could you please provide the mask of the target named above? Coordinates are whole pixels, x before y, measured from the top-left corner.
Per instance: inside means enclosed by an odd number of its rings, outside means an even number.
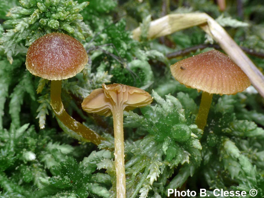
[[[116,108],[115,108],[116,107]],[[115,138],[116,197],[126,197],[126,175],[124,158],[123,108],[115,106],[113,114]]]

